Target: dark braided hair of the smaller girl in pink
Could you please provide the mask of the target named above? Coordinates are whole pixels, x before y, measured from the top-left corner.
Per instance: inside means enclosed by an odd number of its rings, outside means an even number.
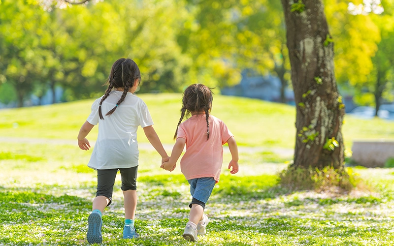
[[[181,124],[183,118],[188,116],[190,113],[205,112],[205,120],[207,127],[207,140],[209,139],[209,112],[212,109],[212,92],[211,90],[202,84],[193,84],[186,88],[182,96],[182,108],[181,108],[181,119],[179,119],[178,125],[176,126],[174,139],[178,135],[178,127]]]

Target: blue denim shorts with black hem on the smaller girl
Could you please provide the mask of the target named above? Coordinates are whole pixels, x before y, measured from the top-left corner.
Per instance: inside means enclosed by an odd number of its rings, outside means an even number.
[[[216,181],[212,177],[204,177],[188,180],[190,184],[190,194],[193,196],[192,202],[189,207],[192,208],[192,204],[198,204],[205,209],[205,204],[211,196],[213,187]]]

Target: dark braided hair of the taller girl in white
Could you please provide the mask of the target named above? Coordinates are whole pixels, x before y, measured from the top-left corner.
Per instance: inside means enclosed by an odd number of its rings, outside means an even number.
[[[116,103],[116,106],[113,107],[106,115],[112,115],[113,112],[118,108],[118,106],[125,100],[127,92],[129,92],[130,88],[134,86],[135,80],[141,81],[141,73],[139,72],[139,68],[137,64],[131,60],[126,58],[121,58],[114,62],[111,68],[111,73],[108,76],[108,80],[105,84],[108,84],[108,88],[105,91],[105,94],[102,96],[100,105],[99,105],[99,117],[101,120],[104,120],[101,113],[101,104],[108,97],[109,92],[115,88],[123,88],[123,94]]]

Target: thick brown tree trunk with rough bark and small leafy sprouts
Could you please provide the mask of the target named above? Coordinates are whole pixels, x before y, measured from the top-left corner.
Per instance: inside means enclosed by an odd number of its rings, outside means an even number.
[[[282,5],[296,101],[293,166],[340,169],[345,112],[336,86],[324,5],[321,0],[282,0]]]

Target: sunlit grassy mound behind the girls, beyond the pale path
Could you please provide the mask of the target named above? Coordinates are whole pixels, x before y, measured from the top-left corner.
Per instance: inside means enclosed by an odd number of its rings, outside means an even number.
[[[163,143],[173,143],[180,117],[181,94],[139,94],[151,112],[154,127]],[[90,113],[93,100],[40,107],[0,110],[0,136],[20,138],[76,139]],[[222,119],[240,146],[293,148],[295,108],[257,99],[214,95],[212,114]],[[355,139],[394,139],[394,123],[381,119],[361,120],[346,116],[345,144]],[[97,127],[89,139],[97,138]],[[138,130],[138,141],[148,142]]]

